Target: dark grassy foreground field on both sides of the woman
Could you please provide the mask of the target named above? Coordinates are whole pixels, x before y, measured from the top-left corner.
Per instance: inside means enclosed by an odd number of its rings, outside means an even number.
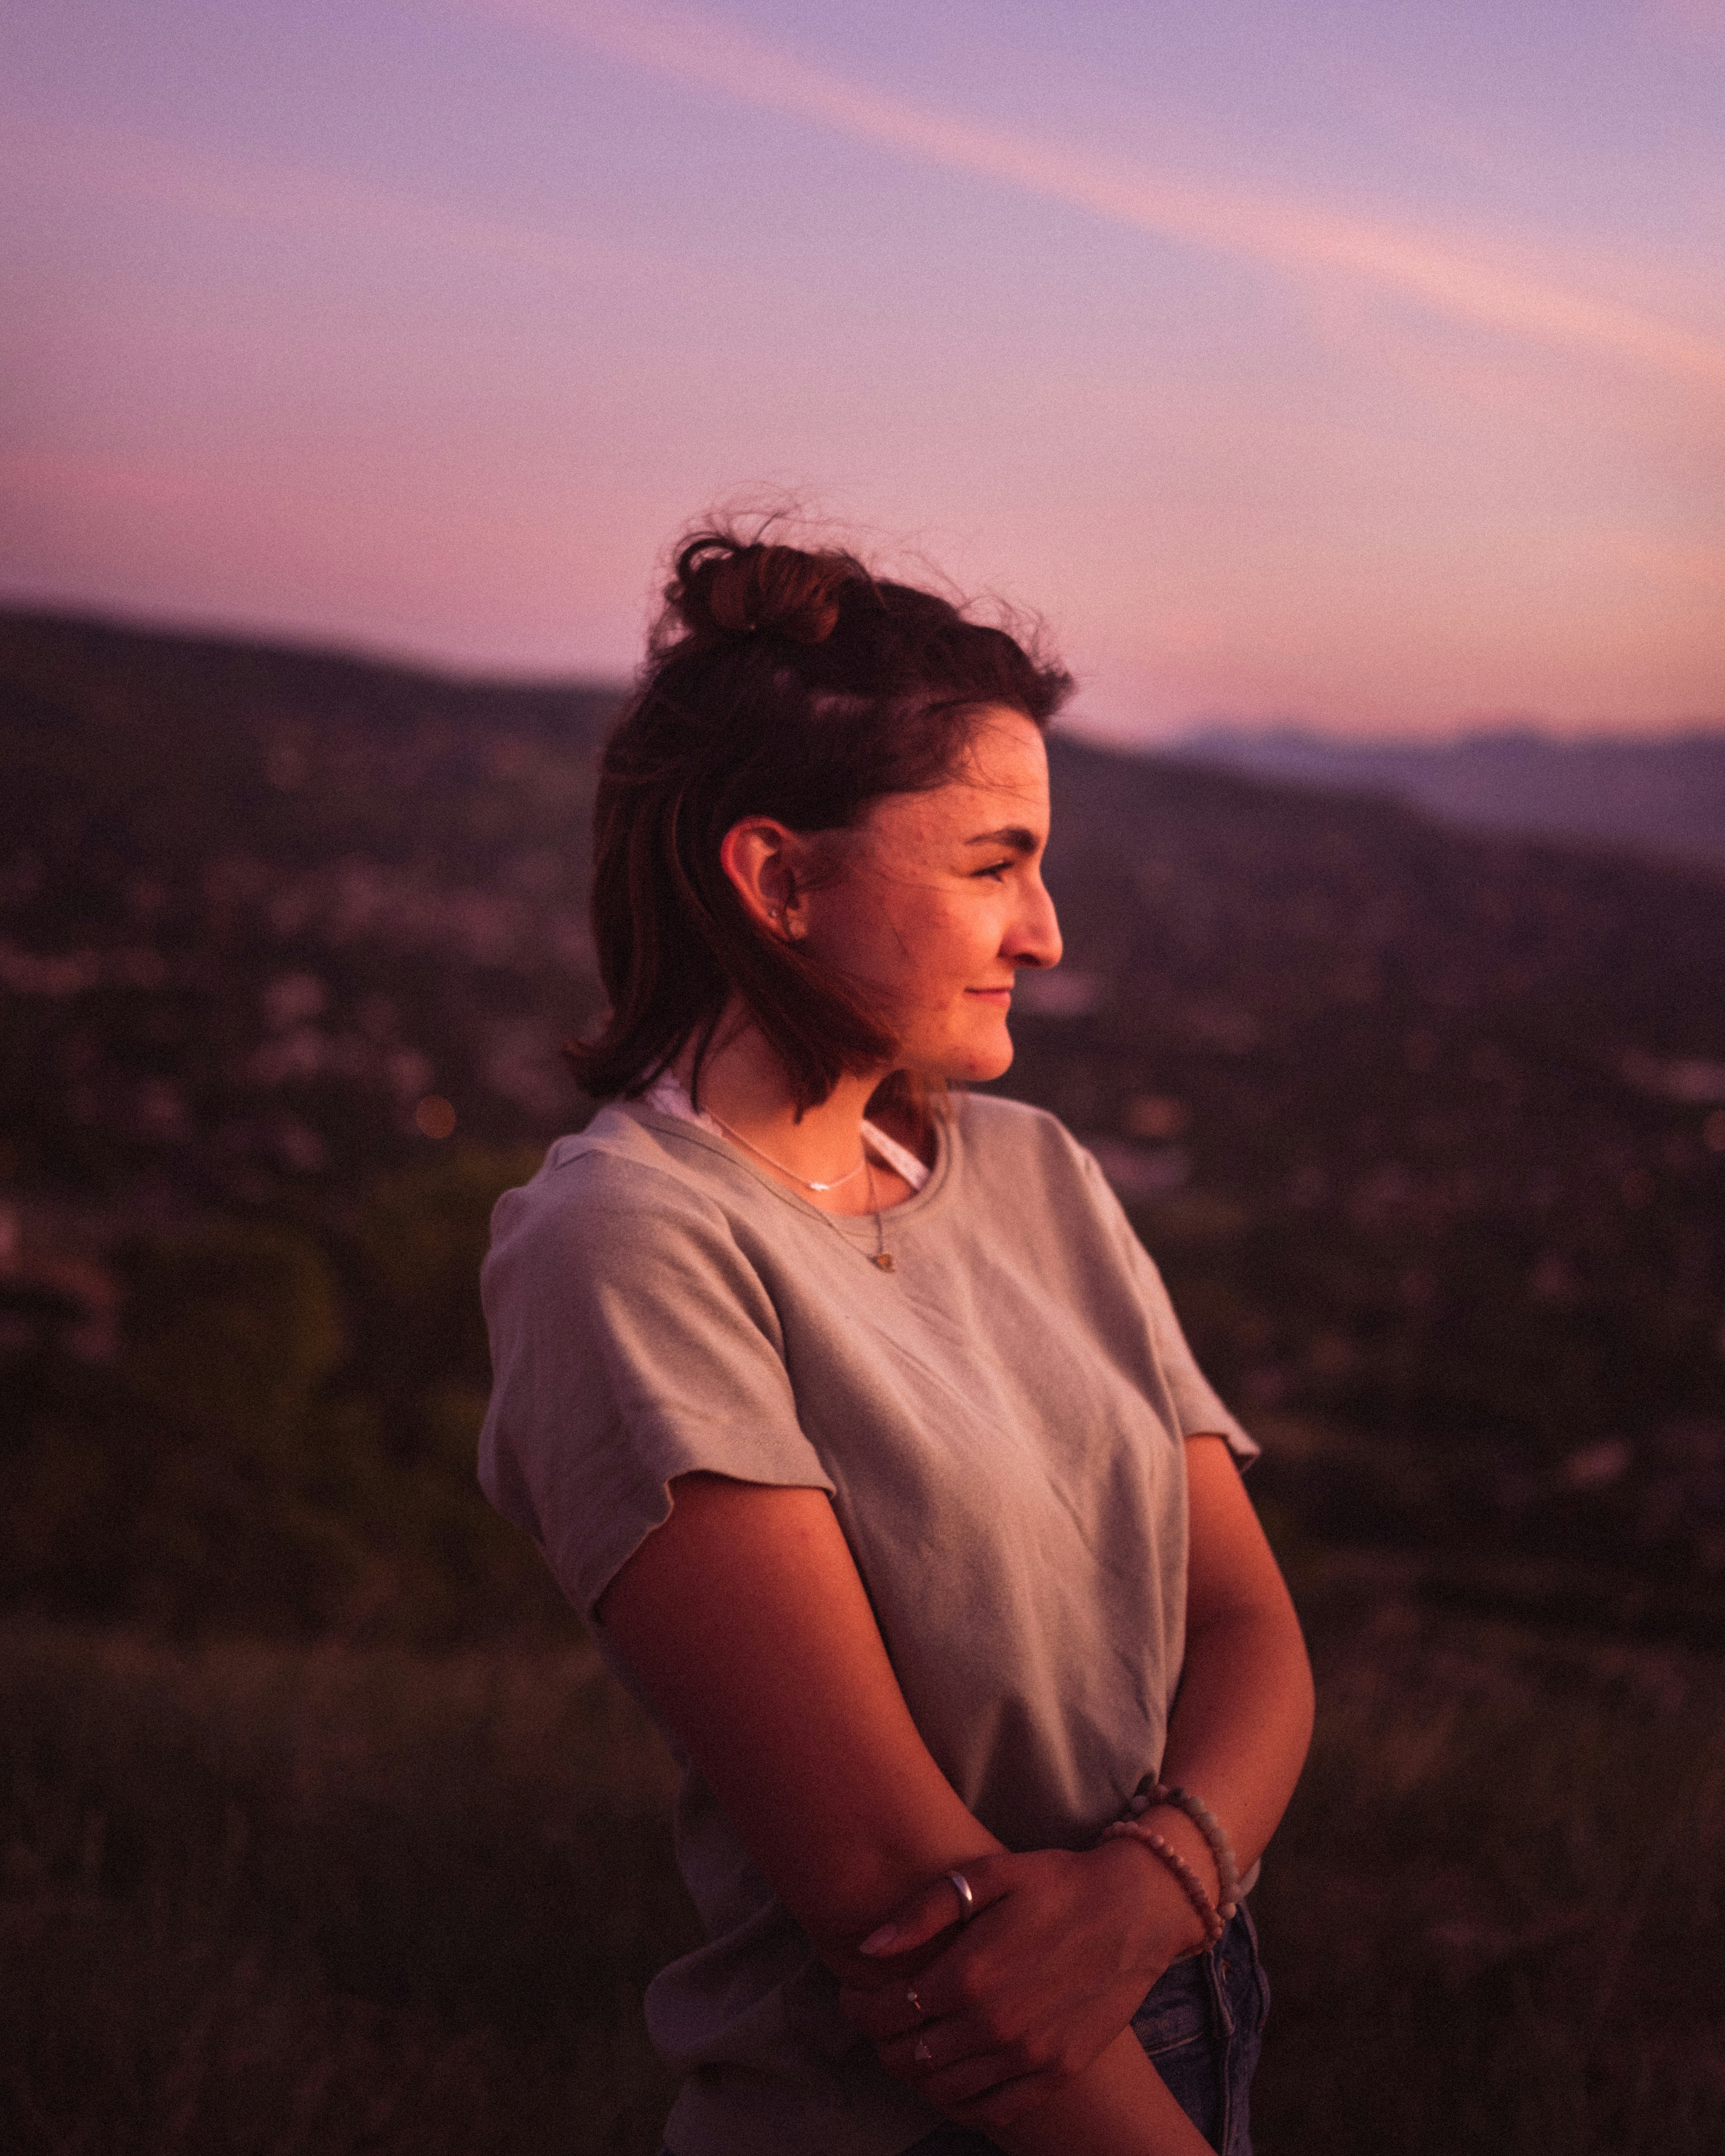
[[[1261,2156],[1701,2156],[1725,2130],[1725,1662],[1313,1574],[1257,1895]],[[690,1938],[591,1651],[0,1636],[11,2152],[651,2152]]]

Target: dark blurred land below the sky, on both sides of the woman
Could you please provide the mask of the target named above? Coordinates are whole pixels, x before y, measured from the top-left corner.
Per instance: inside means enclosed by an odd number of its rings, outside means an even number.
[[[6,2147],[658,2147],[666,1766],[472,1481],[489,1205],[591,1112],[617,699],[0,614]],[[1266,2156],[1719,2145],[1693,746],[1581,824],[1052,746],[1005,1089],[1266,1438],[1320,1662]]]

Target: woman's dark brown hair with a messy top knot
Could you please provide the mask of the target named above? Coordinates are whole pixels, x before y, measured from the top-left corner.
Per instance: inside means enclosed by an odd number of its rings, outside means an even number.
[[[593,938],[610,1018],[565,1054],[595,1100],[643,1093],[735,994],[798,1112],[895,1056],[888,1015],[796,944],[761,934],[720,867],[750,815],[854,828],[884,793],[960,768],[985,707],[1046,727],[1072,677],[951,599],[856,556],[692,533],[636,694],[606,742],[593,811]],[[891,1080],[888,1080],[891,1084]]]

